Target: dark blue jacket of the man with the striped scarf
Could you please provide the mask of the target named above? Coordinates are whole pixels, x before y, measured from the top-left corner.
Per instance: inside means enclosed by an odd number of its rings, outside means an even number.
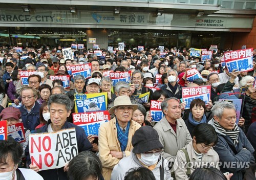
[[[210,120],[208,123],[213,125],[213,119]],[[233,147],[236,148],[238,152],[237,154],[235,154],[228,145],[228,142],[230,144],[233,144],[231,139],[228,136],[225,136],[225,134],[220,132],[218,129],[215,128],[215,130],[218,135],[218,143],[214,147],[214,150],[219,154],[220,162],[222,163],[222,165],[220,166],[220,170],[223,173],[233,173],[233,176],[230,178],[230,180],[242,180],[245,169],[249,168],[249,163],[255,162],[252,155],[254,149],[251,143],[246,138],[243,130],[239,127],[239,143],[237,147],[234,147],[233,145]]]

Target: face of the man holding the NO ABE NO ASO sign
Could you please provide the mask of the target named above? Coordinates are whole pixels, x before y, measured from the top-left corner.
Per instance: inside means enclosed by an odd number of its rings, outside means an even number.
[[[52,122],[53,129],[61,129],[62,126],[67,121],[71,110],[67,111],[66,105],[52,103],[50,105],[50,118]]]

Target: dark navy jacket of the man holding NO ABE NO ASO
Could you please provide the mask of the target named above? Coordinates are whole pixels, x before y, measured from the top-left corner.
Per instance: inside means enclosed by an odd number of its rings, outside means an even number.
[[[35,132],[36,133],[48,132],[48,126],[50,123],[51,123],[51,120],[48,120],[46,125],[42,126],[39,129],[36,129]],[[72,127],[75,127],[75,129],[76,129],[76,140],[77,140],[78,153],[82,152],[82,151],[91,150],[93,146],[87,139],[86,133],[84,132],[83,128],[66,121],[61,129],[68,129],[68,128],[72,128]],[[27,146],[27,148],[25,150],[25,155],[27,156],[27,163],[28,163],[28,165],[30,165],[31,160],[30,160],[30,155],[29,155],[29,146]],[[59,168],[59,169],[49,169],[49,170],[39,171],[38,173],[44,179],[68,180],[67,172],[64,172],[63,167]]]

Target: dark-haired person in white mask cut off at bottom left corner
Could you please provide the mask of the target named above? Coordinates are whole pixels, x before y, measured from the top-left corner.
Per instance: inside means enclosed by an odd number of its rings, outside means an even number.
[[[22,161],[23,148],[13,138],[0,141],[0,179],[1,180],[44,180],[30,169],[18,168]]]

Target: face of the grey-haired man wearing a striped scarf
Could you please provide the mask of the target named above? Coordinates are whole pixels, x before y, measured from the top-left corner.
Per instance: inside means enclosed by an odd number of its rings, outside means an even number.
[[[219,124],[227,130],[232,130],[236,125],[237,114],[234,109],[225,108],[222,114],[222,117],[219,118],[214,116],[214,119],[219,122]]]

